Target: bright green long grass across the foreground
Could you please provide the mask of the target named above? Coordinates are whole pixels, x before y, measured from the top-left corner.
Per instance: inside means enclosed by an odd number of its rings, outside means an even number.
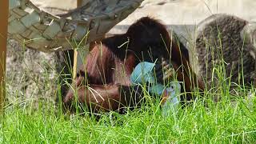
[[[254,101],[250,101],[254,102]],[[256,103],[242,98],[230,102],[198,100],[178,114],[162,117],[157,102],[128,114],[114,112],[94,117],[58,115],[54,109],[29,112],[14,106],[1,120],[1,143],[254,143],[256,142]]]

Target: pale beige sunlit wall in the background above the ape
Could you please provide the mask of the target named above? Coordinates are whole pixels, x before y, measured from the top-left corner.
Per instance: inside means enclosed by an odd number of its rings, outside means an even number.
[[[75,0],[32,0],[37,6],[53,13],[63,13],[76,7]],[[129,25],[146,15],[168,25],[194,25],[216,13],[234,14],[256,21],[255,0],[145,0],[142,6],[119,25]]]

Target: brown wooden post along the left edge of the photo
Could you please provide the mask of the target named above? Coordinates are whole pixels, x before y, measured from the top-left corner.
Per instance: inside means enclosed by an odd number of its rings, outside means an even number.
[[[6,98],[6,43],[8,26],[8,0],[0,1],[0,113],[2,114]]]

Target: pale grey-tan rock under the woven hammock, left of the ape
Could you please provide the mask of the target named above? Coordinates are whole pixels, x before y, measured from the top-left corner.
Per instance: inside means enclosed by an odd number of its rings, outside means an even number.
[[[17,106],[38,107],[54,104],[58,90],[56,54],[22,47],[8,40],[6,58],[6,98]]]

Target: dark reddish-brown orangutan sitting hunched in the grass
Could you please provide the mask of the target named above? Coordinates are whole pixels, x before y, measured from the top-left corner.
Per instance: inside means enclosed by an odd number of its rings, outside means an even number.
[[[138,106],[143,98],[142,90],[140,86],[131,86],[130,74],[139,62],[157,59],[158,66],[161,59],[170,62],[178,73],[178,81],[185,83],[186,92],[192,91],[197,83],[203,89],[190,69],[185,46],[172,41],[160,22],[145,17],[131,25],[126,34],[105,38],[90,51],[75,82],[78,102],[96,113]],[[162,81],[162,75],[158,79]],[[187,94],[186,100],[191,98],[192,95]],[[69,90],[63,101],[66,108],[70,109],[73,101],[74,91]]]

